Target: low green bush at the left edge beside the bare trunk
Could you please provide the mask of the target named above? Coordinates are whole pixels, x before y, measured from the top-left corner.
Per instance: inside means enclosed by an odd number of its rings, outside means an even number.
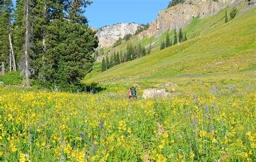
[[[0,82],[4,85],[19,85],[23,83],[23,76],[19,71],[8,72],[4,76],[0,75]]]

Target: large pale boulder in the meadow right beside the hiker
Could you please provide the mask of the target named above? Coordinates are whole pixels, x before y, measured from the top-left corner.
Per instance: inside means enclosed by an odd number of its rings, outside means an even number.
[[[165,89],[156,90],[156,89],[146,89],[143,90],[143,98],[163,98],[170,95],[170,92],[166,92]]]

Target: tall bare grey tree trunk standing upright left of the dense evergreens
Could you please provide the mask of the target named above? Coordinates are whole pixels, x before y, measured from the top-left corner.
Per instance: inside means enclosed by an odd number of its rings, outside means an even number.
[[[26,86],[30,87],[29,79],[29,0],[25,1],[25,77],[26,77]]]

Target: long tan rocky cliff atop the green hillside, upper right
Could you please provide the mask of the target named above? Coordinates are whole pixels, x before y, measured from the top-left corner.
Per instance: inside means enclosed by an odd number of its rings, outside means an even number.
[[[153,21],[148,30],[139,33],[139,39],[151,36],[158,37],[166,30],[179,29],[191,23],[194,17],[213,16],[226,5],[238,3],[241,0],[186,0],[169,9],[159,12],[157,20]]]

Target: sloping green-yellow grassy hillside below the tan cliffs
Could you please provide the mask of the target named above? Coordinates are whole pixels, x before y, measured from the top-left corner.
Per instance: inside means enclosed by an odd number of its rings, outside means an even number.
[[[242,5],[240,8],[243,8]],[[237,17],[228,23],[224,22],[225,10],[229,12],[230,8],[227,7],[212,17],[193,19],[183,29],[189,38],[186,42],[160,51],[159,40],[159,43],[153,45],[150,55],[114,66],[103,73],[95,68],[93,75],[86,76],[85,82],[135,83],[143,80],[168,80],[177,76],[254,71],[256,9],[240,9]],[[157,39],[165,39],[166,34],[167,32]],[[173,39],[173,31],[170,31],[170,36]],[[146,45],[148,42],[144,38],[140,43]],[[123,43],[114,49],[124,46]]]

